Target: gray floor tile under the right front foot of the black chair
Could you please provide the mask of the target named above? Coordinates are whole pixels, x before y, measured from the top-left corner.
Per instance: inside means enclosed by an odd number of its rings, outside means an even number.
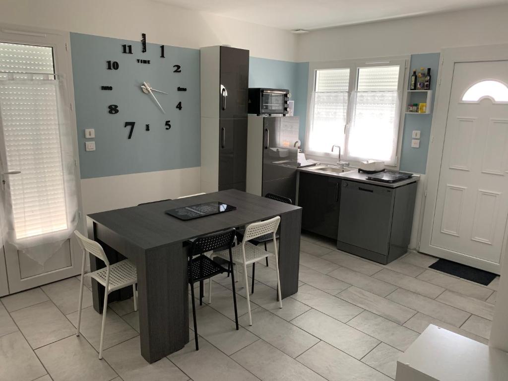
[[[203,306],[197,309],[196,319],[198,334],[228,356],[258,340],[256,335],[243,327],[237,331],[232,320],[211,307]],[[252,324],[257,324],[256,320],[252,319]],[[189,320],[189,327],[193,327],[192,319]]]

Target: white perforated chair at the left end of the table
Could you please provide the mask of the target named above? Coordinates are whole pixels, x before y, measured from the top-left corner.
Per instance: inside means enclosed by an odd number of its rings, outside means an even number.
[[[83,262],[81,264],[81,285],[79,288],[79,309],[78,309],[78,328],[76,336],[79,336],[79,327],[81,325],[81,307],[83,304],[83,284],[84,277],[90,276],[101,283],[104,288],[104,309],[102,312],[102,328],[101,328],[101,344],[99,346],[99,359],[102,359],[102,345],[104,341],[104,327],[106,325],[106,311],[108,309],[109,293],[132,285],[134,292],[134,310],[138,310],[138,296],[136,294],[136,283],[138,282],[136,266],[129,260],[120,261],[112,265],[109,264],[108,258],[102,246],[96,241],[86,238],[77,230],[74,234],[78,238],[79,245],[83,249]],[[96,256],[104,261],[105,268],[85,274],[86,253]]]

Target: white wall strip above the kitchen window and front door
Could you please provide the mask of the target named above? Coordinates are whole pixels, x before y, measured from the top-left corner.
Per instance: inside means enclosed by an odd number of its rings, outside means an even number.
[[[508,5],[503,5],[315,30],[299,36],[297,59],[383,57],[508,43],[507,17]]]

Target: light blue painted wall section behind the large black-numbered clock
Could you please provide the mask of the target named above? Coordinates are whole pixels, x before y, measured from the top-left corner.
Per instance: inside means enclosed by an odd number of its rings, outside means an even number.
[[[134,54],[122,54],[122,44],[132,45]],[[198,49],[166,46],[166,58],[161,58],[158,44],[147,44],[147,52],[141,53],[139,41],[72,33],[71,50],[81,178],[200,166]],[[150,59],[150,65],[138,58]],[[107,70],[107,60],[117,61],[119,69]],[[180,65],[181,73],[173,73],[173,65]],[[169,92],[156,93],[166,114],[141,91],[143,81]],[[101,90],[102,85],[113,90]],[[187,91],[177,91],[178,86]],[[108,113],[111,104],[118,105],[117,114]],[[170,130],[166,120],[171,120]],[[136,122],[132,139],[125,121]],[[95,129],[94,139],[84,138],[89,128]],[[96,151],[86,152],[85,140],[95,141]]]

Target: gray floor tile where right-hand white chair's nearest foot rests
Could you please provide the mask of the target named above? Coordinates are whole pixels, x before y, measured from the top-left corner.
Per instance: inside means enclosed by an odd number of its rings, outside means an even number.
[[[256,324],[249,326],[248,315],[243,315],[240,324],[293,358],[319,342],[319,339],[263,308],[252,311],[252,321]]]

